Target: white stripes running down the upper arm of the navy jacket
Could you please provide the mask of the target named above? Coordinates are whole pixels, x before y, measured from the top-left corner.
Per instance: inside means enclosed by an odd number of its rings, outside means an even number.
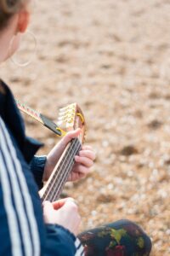
[[[7,211],[8,218],[8,228],[11,236],[12,250],[14,251],[14,256],[20,256],[21,248],[19,247],[20,241],[19,237],[16,236],[16,230],[19,230],[19,226],[17,221],[15,221],[13,225],[11,225],[10,218],[11,212],[8,210],[7,201],[9,203],[10,209],[13,208],[13,216],[16,220],[16,216],[18,215],[18,219],[20,222],[20,230],[21,230],[21,238],[24,244],[24,250],[26,256],[39,256],[40,255],[40,241],[37,230],[37,222],[34,216],[33,206],[31,202],[31,196],[29,194],[29,190],[26,183],[26,178],[22,172],[22,167],[20,165],[20,161],[17,158],[16,151],[14,149],[14,145],[8,135],[8,131],[3,123],[3,120],[0,119],[0,149],[1,149],[1,160],[3,161],[1,166],[1,182],[3,186],[3,197]],[[5,165],[5,162],[6,165]],[[9,180],[8,180],[9,179]],[[5,181],[4,181],[5,180]],[[10,186],[10,183],[12,186]],[[8,193],[8,199],[6,199]],[[12,205],[12,193],[14,195],[14,206]],[[23,197],[23,198],[22,198]],[[25,206],[24,202],[25,201]],[[26,218],[27,217],[27,218]],[[14,227],[15,225],[15,227]],[[30,225],[30,229],[29,229]],[[15,231],[14,231],[15,229]],[[19,233],[18,233],[19,234]],[[33,247],[31,245],[31,241],[33,242]],[[14,246],[15,245],[15,246]],[[18,250],[18,251],[17,251]]]

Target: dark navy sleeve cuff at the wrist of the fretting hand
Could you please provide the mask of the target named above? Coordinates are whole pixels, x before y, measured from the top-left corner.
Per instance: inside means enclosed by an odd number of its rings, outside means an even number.
[[[35,155],[30,163],[31,172],[35,178],[38,189],[42,189],[42,176],[44,171],[44,166],[46,163],[47,157],[45,155],[37,156]]]

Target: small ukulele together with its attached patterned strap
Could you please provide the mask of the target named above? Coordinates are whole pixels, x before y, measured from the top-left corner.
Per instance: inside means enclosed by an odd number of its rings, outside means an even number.
[[[54,167],[54,171],[48,178],[48,182],[44,184],[39,192],[42,201],[56,201],[74,165],[74,157],[82,148],[82,143],[84,143],[86,124],[82,110],[77,103],[70,104],[65,108],[60,108],[56,125],[53,121],[42,115],[42,113],[38,113],[19,100],[15,100],[15,102],[22,112],[37,119],[38,122],[45,125],[51,131],[54,131],[59,137],[65,136],[66,132],[77,128],[81,128],[82,130],[79,138],[74,138],[68,143],[57,165]],[[62,127],[62,129],[60,127]]]

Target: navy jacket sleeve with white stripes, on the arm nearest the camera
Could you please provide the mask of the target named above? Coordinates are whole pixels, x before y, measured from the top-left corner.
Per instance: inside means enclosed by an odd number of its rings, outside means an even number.
[[[44,224],[29,168],[0,118],[0,256],[82,256],[69,230]]]

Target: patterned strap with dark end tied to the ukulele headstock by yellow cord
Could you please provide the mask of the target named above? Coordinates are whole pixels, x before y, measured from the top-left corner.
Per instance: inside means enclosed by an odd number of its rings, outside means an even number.
[[[46,126],[49,130],[54,131],[57,136],[62,137],[65,135],[65,131],[59,128],[58,125],[56,125],[52,120],[48,119],[45,115],[42,113],[38,113],[33,108],[30,108],[26,106],[26,104],[20,102],[19,100],[15,100],[17,107],[24,113],[31,116],[31,118],[36,119],[38,122],[40,122],[42,125]]]

